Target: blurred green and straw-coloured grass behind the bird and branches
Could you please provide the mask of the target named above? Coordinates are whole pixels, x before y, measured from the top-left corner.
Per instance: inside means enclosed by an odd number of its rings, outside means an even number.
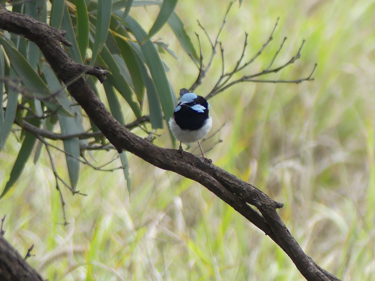
[[[315,62],[318,68],[314,82],[240,84],[220,93],[210,100],[212,132],[225,126],[203,143],[205,150],[214,145],[207,152],[214,164],[284,202],[279,213],[303,250],[343,280],[375,278],[374,2],[243,1],[240,8],[235,3],[221,37],[228,70],[240,56],[245,31],[251,58],[278,17],[274,40],[248,73],[268,66],[284,36],[276,64],[306,43],[300,60],[272,78],[308,76]],[[228,4],[178,3],[196,46],[194,32],[204,37],[196,20],[214,40]],[[157,10],[133,8],[131,15],[149,30]],[[168,26],[154,39],[159,38],[178,56],[163,56],[178,93],[195,81],[196,67]],[[202,43],[207,59],[210,47]],[[220,68],[218,56],[197,94],[211,90]],[[168,134],[157,133],[162,136],[155,143],[171,147]],[[19,148],[11,136],[0,153],[2,186]],[[65,158],[54,155],[66,178]],[[115,153],[94,155],[104,161]],[[28,163],[0,202],[6,239],[22,255],[34,244],[36,256],[28,262],[49,280],[304,280],[271,239],[205,188],[133,155],[129,162],[131,202],[120,171],[83,167],[78,189],[87,196],[63,190],[68,226],[60,224],[61,203],[46,154],[37,165]]]

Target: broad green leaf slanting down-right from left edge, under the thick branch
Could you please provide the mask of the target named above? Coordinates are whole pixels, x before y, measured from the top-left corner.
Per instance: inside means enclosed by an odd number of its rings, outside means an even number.
[[[69,112],[62,107],[61,103],[56,99],[55,95],[51,93],[42,78],[40,78],[30,63],[18,52],[12,43],[8,42],[8,40],[2,36],[0,36],[0,43],[3,45],[11,66],[25,84],[28,92],[31,93],[33,97],[43,100],[49,109],[69,116]]]

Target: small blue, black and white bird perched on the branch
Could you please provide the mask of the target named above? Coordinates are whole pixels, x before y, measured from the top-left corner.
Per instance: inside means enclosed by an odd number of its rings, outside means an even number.
[[[174,109],[173,117],[169,120],[169,127],[173,135],[181,143],[198,142],[204,157],[199,140],[202,139],[212,127],[212,118],[208,116],[210,105],[202,96],[189,93],[186,88],[180,90],[180,102]]]

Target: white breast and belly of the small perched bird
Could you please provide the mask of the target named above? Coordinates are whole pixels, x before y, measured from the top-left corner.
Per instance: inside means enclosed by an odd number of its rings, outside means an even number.
[[[192,143],[203,139],[204,136],[210,132],[212,127],[212,118],[208,118],[201,129],[194,131],[182,130],[177,125],[176,121],[174,121],[173,117],[169,119],[169,126],[171,127],[171,131],[178,141],[183,143]]]

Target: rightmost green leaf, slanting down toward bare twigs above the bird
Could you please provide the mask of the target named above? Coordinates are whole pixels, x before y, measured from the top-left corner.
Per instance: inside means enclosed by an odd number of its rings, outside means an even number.
[[[196,61],[198,61],[199,57],[196,53],[193,43],[191,42],[190,37],[186,33],[183,22],[175,12],[173,12],[172,15],[169,17],[168,24],[172,28],[172,31],[174,32],[178,41],[180,41],[180,44],[182,48],[184,48],[186,53],[192,56]]]

